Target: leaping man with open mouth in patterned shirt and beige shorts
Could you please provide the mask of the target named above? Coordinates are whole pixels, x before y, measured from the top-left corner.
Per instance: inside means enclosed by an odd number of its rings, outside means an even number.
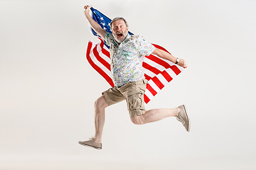
[[[122,17],[114,18],[110,23],[112,34],[103,30],[89,15],[92,6],[85,6],[85,17],[95,32],[110,46],[111,72],[114,87],[104,91],[95,101],[95,136],[87,141],[79,141],[80,145],[102,149],[102,130],[105,123],[105,108],[120,101],[127,101],[132,123],[142,125],[163,118],[174,116],[181,121],[187,131],[190,130],[190,120],[186,106],[177,108],[161,108],[146,111],[144,107],[144,92],[147,81],[144,79],[142,62],[144,56],[151,54],[187,67],[186,62],[160,50],[142,36],[129,35],[128,23]]]

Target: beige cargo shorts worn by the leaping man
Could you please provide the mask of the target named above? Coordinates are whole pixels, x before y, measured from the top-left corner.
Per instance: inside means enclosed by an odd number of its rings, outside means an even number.
[[[144,93],[146,90],[146,79],[131,81],[124,86],[117,88],[116,86],[102,92],[105,95],[108,106],[120,101],[127,101],[127,109],[130,118],[143,115],[146,112],[144,106]]]

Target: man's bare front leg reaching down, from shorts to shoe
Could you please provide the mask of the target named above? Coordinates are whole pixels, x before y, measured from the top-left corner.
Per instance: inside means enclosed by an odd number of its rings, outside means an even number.
[[[96,143],[102,142],[102,132],[105,123],[105,108],[107,108],[107,101],[102,95],[95,101],[95,136],[93,139]]]

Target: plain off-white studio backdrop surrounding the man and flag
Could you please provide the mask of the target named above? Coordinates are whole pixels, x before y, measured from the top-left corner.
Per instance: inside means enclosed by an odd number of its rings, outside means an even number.
[[[188,64],[146,109],[186,104],[175,118],[133,125],[126,103],[106,109],[102,150],[94,101],[110,87],[85,58],[84,6]],[[256,2],[0,1],[0,169],[256,169]]]

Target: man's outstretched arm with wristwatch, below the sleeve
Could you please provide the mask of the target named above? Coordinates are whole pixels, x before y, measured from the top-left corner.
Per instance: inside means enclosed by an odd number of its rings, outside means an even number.
[[[168,52],[165,52],[164,50],[161,50],[159,48],[156,48],[153,52],[152,52],[153,55],[157,55],[158,57],[162,58],[162,59],[166,59],[166,60],[169,60],[171,62],[174,62],[176,63],[177,62],[177,59],[176,57],[174,57],[173,55],[169,54]],[[185,60],[183,59],[179,59],[178,63],[177,63],[179,66],[181,67],[188,67],[186,65],[186,62]]]

